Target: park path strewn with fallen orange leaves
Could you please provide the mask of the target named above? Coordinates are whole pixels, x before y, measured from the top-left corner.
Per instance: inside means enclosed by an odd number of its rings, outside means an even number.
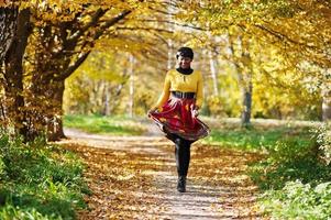
[[[141,136],[66,130],[92,194],[78,219],[263,219],[245,175],[258,155],[194,144],[187,193],[176,190],[173,144],[154,129]]]

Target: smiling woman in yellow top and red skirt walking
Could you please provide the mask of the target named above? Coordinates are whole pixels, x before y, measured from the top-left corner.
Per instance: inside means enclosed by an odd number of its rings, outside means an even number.
[[[148,111],[148,117],[175,143],[177,190],[185,193],[190,145],[207,136],[210,130],[197,118],[203,101],[203,81],[201,73],[190,66],[194,52],[189,47],[180,47],[176,58],[178,68],[166,74],[163,92]]]

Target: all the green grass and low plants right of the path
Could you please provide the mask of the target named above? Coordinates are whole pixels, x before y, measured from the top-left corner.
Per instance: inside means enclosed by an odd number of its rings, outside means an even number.
[[[273,219],[331,219],[331,166],[323,163],[321,130],[306,125],[241,129],[221,124],[202,142],[263,152],[250,175],[263,193],[262,210]],[[328,142],[330,144],[330,140]]]

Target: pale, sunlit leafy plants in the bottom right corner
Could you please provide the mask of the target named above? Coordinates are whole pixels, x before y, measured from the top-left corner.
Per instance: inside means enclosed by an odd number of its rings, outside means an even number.
[[[316,187],[288,182],[282,190],[267,191],[262,207],[274,219],[330,219],[331,182]]]

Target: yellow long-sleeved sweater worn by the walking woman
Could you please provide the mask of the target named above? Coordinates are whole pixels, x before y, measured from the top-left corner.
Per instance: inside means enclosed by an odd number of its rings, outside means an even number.
[[[196,92],[196,106],[201,107],[203,101],[203,79],[200,72],[184,75],[176,69],[170,69],[165,78],[163,92],[156,102],[156,108],[161,108],[170,96],[170,91]]]

